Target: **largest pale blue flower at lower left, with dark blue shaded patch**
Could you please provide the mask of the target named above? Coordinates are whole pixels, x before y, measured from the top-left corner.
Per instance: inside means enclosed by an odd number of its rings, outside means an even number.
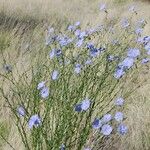
[[[41,118],[36,114],[31,116],[28,122],[28,126],[30,129],[32,129],[33,127],[38,127],[39,125],[41,125],[41,123]]]

